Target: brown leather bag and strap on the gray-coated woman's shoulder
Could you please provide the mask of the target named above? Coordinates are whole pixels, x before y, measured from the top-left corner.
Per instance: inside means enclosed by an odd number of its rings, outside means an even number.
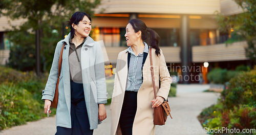
[[[58,99],[59,99],[59,76],[60,76],[60,71],[61,71],[61,63],[62,63],[62,53],[64,49],[65,43],[63,43],[60,54],[59,54],[59,64],[58,64],[58,79],[56,83],[56,88],[55,88],[55,93],[54,93],[54,98],[51,103],[51,107],[57,108],[58,105]]]

